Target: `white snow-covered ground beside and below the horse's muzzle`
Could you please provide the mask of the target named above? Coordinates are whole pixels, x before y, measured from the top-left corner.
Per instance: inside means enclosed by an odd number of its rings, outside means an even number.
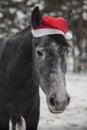
[[[64,113],[49,112],[44,93],[41,95],[41,115],[38,130],[87,130],[87,74],[66,75],[70,105]]]

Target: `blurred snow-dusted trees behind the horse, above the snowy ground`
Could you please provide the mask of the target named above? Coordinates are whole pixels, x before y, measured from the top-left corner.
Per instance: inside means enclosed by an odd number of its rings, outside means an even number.
[[[0,0],[0,37],[29,26],[35,6],[56,17],[65,16],[72,9],[73,71],[87,70],[87,0]]]

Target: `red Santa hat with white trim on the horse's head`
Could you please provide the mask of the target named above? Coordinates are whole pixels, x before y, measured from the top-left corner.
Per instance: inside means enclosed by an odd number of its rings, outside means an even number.
[[[42,23],[37,29],[32,27],[31,32],[34,37],[61,34],[67,40],[72,38],[71,32],[68,31],[67,21],[63,17],[54,18],[51,16],[43,16]]]

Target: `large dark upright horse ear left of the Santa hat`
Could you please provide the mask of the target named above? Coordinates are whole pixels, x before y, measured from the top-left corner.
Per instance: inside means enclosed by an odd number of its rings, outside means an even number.
[[[31,15],[32,26],[36,29],[42,22],[42,15],[39,11],[39,7],[34,8]]]

